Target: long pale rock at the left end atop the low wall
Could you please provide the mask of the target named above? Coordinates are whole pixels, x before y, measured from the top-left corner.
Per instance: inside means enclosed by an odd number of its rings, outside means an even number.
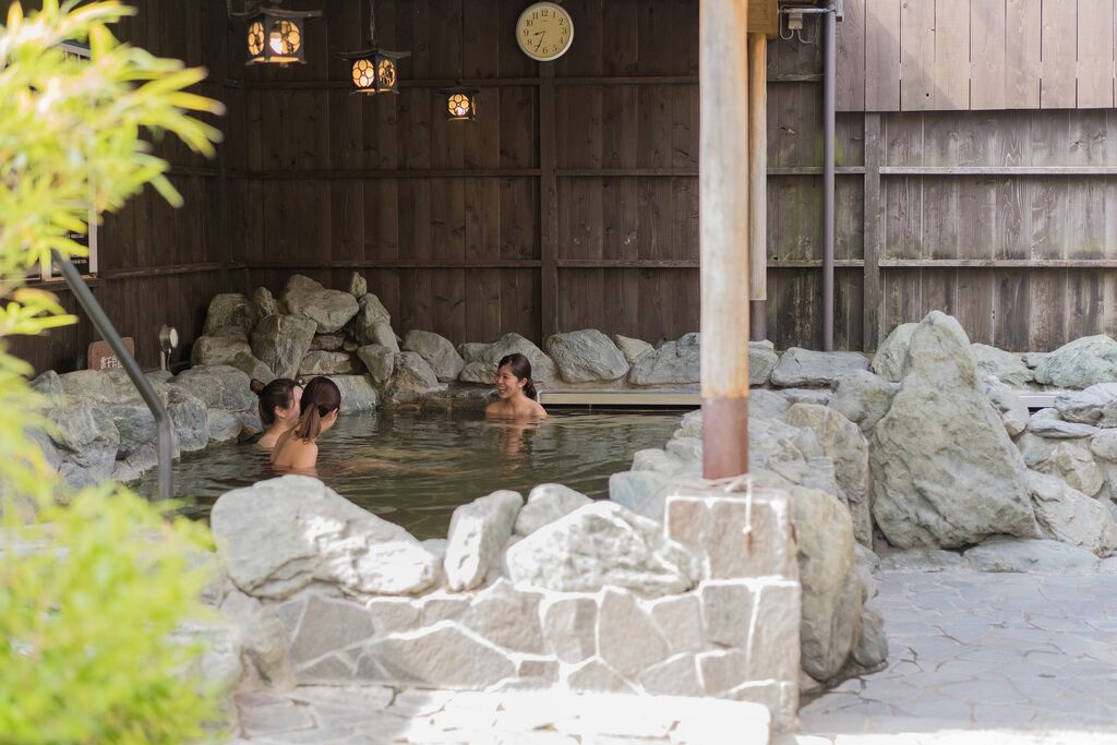
[[[439,575],[438,560],[410,533],[308,476],[221,495],[210,527],[229,579],[256,598],[280,600],[314,581],[357,596],[409,594]]]

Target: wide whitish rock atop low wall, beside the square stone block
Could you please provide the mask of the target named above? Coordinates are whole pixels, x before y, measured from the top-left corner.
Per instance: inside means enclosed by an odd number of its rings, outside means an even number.
[[[697,558],[663,537],[655,520],[611,502],[595,502],[545,525],[505,557],[513,582],[558,592],[596,592],[607,585],[661,596],[691,589]]]

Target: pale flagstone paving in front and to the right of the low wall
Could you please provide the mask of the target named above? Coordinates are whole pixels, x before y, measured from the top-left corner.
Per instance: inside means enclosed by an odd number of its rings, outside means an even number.
[[[806,704],[805,734],[777,745],[1117,745],[1117,574],[878,579],[887,668]],[[502,708],[499,696],[378,687],[250,694],[239,699],[244,734],[235,743],[714,742],[677,723],[589,737],[537,729],[555,719],[553,707]]]

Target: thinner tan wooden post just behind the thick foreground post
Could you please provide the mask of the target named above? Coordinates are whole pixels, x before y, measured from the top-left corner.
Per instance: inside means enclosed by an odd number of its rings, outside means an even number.
[[[748,298],[754,342],[767,338],[767,37],[748,35]]]

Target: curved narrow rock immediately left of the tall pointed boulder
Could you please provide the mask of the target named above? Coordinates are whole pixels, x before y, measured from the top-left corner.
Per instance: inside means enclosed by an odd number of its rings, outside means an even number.
[[[833,461],[838,488],[853,520],[853,537],[861,545],[871,546],[869,442],[861,430],[833,409],[813,403],[796,403],[789,409],[787,423],[814,432],[822,451]]]

